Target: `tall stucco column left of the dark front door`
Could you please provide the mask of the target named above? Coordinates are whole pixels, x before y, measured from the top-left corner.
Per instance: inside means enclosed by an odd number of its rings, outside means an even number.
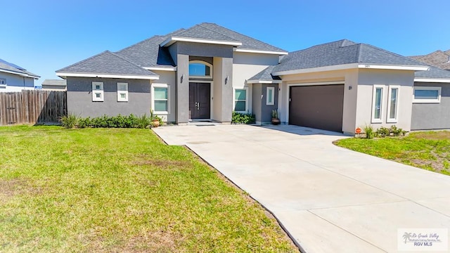
[[[176,124],[189,122],[189,56],[176,56]]]

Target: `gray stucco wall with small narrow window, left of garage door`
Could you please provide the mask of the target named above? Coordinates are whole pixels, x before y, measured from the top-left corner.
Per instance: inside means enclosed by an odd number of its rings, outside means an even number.
[[[267,87],[274,87],[274,105],[266,105]],[[252,113],[257,123],[271,122],[272,110],[278,109],[278,84],[252,84]]]

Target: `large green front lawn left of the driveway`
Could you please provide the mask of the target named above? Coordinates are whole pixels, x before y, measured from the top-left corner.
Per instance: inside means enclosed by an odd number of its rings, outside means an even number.
[[[276,220],[148,129],[0,128],[0,252],[298,252]]]

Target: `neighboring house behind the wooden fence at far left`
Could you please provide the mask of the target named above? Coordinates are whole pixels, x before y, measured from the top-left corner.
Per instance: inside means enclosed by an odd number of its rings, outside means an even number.
[[[0,92],[34,89],[35,79],[39,79],[37,74],[0,59]]]

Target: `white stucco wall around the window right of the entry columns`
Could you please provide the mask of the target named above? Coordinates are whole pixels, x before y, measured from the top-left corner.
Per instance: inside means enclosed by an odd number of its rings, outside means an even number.
[[[245,81],[269,65],[278,64],[279,56],[262,53],[233,53],[233,89],[248,87],[248,110],[252,112],[252,84]],[[233,99],[233,98],[231,98]],[[234,106],[234,103],[233,103]]]

